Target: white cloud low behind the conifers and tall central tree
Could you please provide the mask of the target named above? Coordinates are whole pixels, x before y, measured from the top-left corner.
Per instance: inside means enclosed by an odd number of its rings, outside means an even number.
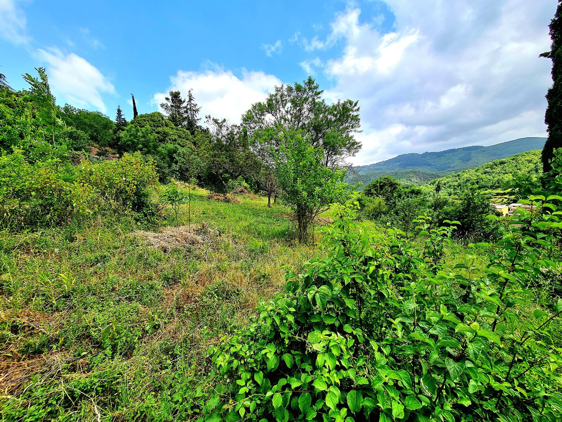
[[[276,85],[282,83],[274,75],[262,71],[244,69],[241,77],[237,77],[231,70],[210,62],[201,71],[178,70],[170,80],[171,86],[167,91],[179,90],[185,97],[192,89],[197,104],[202,107],[201,116],[210,114],[232,123],[239,123],[242,113],[253,103],[264,100]],[[152,104],[159,105],[166,95],[163,92],[155,93]]]

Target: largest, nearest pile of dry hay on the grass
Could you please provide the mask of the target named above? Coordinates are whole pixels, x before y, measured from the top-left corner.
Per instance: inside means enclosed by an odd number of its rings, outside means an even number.
[[[135,230],[133,234],[153,247],[163,250],[200,245],[214,237],[214,231],[205,222],[201,222],[200,225],[191,225],[191,230],[189,230],[189,226],[169,226],[160,227],[157,232]]]

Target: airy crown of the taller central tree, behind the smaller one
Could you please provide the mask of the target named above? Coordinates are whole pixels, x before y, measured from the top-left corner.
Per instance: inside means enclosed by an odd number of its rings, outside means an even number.
[[[347,158],[361,149],[355,139],[360,132],[357,101],[338,100],[328,104],[324,91],[309,77],[303,83],[275,87],[264,102],[257,102],[243,116],[243,125],[255,137],[258,147],[278,149],[277,132],[285,128],[301,131],[310,145],[323,151],[324,166],[350,167]]]

